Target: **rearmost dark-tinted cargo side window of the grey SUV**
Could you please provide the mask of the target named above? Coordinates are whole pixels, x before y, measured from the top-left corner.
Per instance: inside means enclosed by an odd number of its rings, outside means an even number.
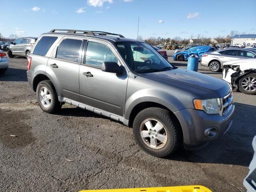
[[[58,37],[44,36],[36,44],[33,54],[45,56]]]

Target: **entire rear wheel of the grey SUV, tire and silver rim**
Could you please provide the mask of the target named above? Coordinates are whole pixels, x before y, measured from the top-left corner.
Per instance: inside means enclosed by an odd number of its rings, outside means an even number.
[[[38,84],[36,97],[40,108],[44,112],[54,113],[61,108],[57,92],[50,80],[44,80]]]

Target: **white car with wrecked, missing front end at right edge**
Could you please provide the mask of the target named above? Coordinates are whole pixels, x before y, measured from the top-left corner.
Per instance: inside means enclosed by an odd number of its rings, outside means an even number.
[[[241,59],[223,64],[222,78],[245,94],[256,94],[256,59]]]

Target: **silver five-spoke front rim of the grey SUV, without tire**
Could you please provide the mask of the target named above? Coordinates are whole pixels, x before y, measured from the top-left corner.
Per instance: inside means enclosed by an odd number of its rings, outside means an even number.
[[[140,136],[150,148],[163,148],[167,142],[167,131],[161,122],[156,119],[146,119],[140,125]]]

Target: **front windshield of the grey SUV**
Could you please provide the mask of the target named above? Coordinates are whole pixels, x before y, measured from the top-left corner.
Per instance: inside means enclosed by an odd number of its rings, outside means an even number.
[[[160,72],[175,68],[149,44],[118,42],[116,45],[130,68],[138,73]]]

